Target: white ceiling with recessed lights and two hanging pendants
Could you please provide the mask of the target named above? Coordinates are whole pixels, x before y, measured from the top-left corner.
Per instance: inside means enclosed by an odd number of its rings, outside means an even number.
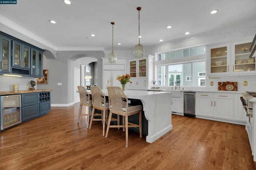
[[[0,15],[56,47],[131,50],[243,23],[256,17],[256,0],[17,0],[0,4]],[[218,9],[216,14],[210,11]],[[49,20],[55,20],[52,24]],[[166,26],[172,28],[167,29]],[[185,32],[190,32],[185,35]],[[95,34],[91,37],[90,34]],[[88,38],[86,38],[88,37]],[[163,39],[159,42],[159,39]],[[117,45],[121,43],[121,45]]]

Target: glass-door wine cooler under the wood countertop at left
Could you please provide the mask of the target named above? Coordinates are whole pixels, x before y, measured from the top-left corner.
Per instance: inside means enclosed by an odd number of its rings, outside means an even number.
[[[10,95],[0,98],[0,124],[1,129],[7,129],[21,123],[21,96]]]

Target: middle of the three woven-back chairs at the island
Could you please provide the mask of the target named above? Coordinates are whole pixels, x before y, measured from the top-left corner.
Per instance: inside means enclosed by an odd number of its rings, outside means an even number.
[[[106,96],[98,86],[91,86],[90,89],[92,93],[92,115],[91,115],[89,129],[91,129],[92,127],[92,121],[102,121],[103,123],[102,135],[104,136],[105,123],[106,123],[106,118],[108,117],[108,111],[109,111],[109,104],[108,104],[108,101],[106,101]],[[100,110],[101,113],[96,113],[95,109]]]

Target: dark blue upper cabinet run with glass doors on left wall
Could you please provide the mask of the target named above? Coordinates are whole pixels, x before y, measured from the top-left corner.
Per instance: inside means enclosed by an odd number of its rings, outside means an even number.
[[[0,74],[42,77],[43,49],[0,31]]]

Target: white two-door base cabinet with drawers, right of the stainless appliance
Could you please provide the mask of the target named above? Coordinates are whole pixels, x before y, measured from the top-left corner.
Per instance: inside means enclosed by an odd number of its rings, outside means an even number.
[[[196,115],[233,119],[233,94],[197,93]]]

